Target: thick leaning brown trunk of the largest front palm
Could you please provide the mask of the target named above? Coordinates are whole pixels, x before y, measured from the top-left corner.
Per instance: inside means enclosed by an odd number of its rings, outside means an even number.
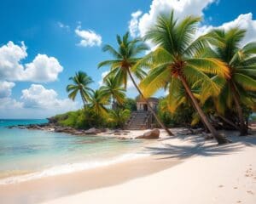
[[[205,113],[201,110],[200,105],[195,99],[195,96],[192,94],[189,84],[186,81],[186,79],[183,76],[180,76],[180,80],[183,83],[183,87],[185,88],[187,94],[189,94],[189,98],[191,99],[192,103],[194,104],[195,110],[198,112],[199,116],[201,117],[202,122],[204,122],[208,128],[208,130],[212,133],[212,136],[217,140],[218,144],[226,144],[230,141],[228,139],[225,139],[221,135],[218,134],[216,129],[212,127],[212,124],[208,121],[207,116]]]

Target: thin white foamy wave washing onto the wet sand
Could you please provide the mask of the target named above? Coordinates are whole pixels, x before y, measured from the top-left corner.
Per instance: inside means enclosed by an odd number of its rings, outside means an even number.
[[[85,161],[85,162],[78,162],[78,163],[67,163],[60,166],[50,167],[40,172],[28,173],[28,174],[25,174],[25,175],[23,174],[19,176],[12,176],[9,178],[3,178],[3,179],[0,179],[0,185],[16,184],[16,183],[25,182],[32,179],[56,176],[56,175],[67,174],[67,173],[74,173],[74,172],[88,170],[96,167],[106,167],[122,161],[130,161],[133,159],[137,159],[137,158],[141,158],[149,155],[150,155],[149,153],[147,154],[146,153],[129,153],[129,154],[124,154],[122,156],[118,156],[116,158],[112,158],[110,160],[105,160],[105,161]]]

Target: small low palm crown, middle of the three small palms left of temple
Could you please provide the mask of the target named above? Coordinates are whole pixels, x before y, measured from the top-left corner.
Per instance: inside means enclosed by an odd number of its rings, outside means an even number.
[[[101,89],[93,91],[92,94],[90,94],[88,105],[90,110],[94,111],[97,116],[104,116],[108,114],[108,110],[105,107],[108,105],[108,99],[106,97],[102,97]]]

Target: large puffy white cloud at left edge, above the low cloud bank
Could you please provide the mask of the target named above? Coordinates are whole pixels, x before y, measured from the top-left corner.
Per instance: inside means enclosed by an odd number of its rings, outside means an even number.
[[[0,47],[0,80],[54,82],[63,70],[58,59],[46,54],[38,54],[31,63],[23,65],[20,60],[26,57],[24,42],[19,46],[10,41]]]

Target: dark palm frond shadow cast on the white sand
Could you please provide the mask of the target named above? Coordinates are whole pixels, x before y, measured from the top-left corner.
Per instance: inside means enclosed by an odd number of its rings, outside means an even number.
[[[185,139],[183,137],[181,138]],[[227,155],[231,152],[240,151],[245,145],[253,146],[256,144],[255,137],[231,137],[230,139],[232,139],[231,144],[217,145],[208,141],[206,142],[203,138],[195,138],[190,145],[163,144],[162,147],[148,147],[146,151],[149,151],[153,155],[164,156],[159,159],[183,159],[189,156]]]

